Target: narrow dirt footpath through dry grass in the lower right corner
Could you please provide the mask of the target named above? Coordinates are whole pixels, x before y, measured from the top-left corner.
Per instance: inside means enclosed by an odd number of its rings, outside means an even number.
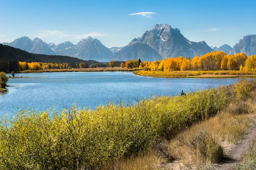
[[[244,153],[247,153],[249,150],[250,144],[256,139],[256,124],[253,124],[250,128],[249,133],[244,136],[239,144],[237,144],[233,150],[228,154],[228,157],[225,158],[220,164],[217,164],[214,169],[216,170],[231,170],[236,164],[241,161]]]

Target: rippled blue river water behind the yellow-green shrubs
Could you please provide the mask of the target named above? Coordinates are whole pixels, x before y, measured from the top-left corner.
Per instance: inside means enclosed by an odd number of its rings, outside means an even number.
[[[8,74],[9,76],[9,74]],[[109,101],[127,103],[151,96],[169,96],[192,89],[228,85],[234,79],[164,79],[140,77],[131,72],[65,72],[20,73],[16,77],[42,77],[9,79],[12,87],[0,94],[0,115],[12,116],[18,108],[45,110],[55,105],[55,110],[70,107],[95,108]]]

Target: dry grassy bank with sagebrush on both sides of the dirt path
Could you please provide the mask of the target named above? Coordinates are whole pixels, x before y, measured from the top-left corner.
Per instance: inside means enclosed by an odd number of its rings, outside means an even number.
[[[253,93],[256,94],[256,91]],[[235,103],[238,104],[238,102]],[[236,109],[243,108],[241,105],[244,105],[244,103],[247,103],[249,107],[248,110],[244,109],[241,114],[233,112],[234,103],[231,103],[229,107],[219,112],[215,117],[184,130],[175,136],[174,139],[169,141],[161,140],[161,144],[166,146],[166,149],[162,151],[162,156],[156,156],[154,154],[156,149],[153,148],[140,156],[116,162],[114,169],[214,169],[215,163],[228,156],[237,142],[247,133],[250,125],[256,120],[256,114],[251,112],[256,108],[256,104],[252,100],[247,102],[240,101]],[[202,141],[202,138],[206,138],[207,141]],[[243,165],[239,167],[245,167],[245,164],[247,167],[255,167],[255,164],[253,164],[256,161],[253,157],[255,156],[254,152],[255,148],[244,158]],[[168,157],[163,157],[164,153],[165,155],[172,156],[175,162],[168,161]],[[107,166],[103,169],[107,170],[109,168]],[[240,169],[244,170],[246,168]],[[249,169],[253,170],[253,168]]]

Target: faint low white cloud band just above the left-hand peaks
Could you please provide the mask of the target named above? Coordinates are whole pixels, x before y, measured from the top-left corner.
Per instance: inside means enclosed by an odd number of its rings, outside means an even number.
[[[103,34],[100,32],[91,32],[89,34],[72,34],[66,31],[52,31],[52,30],[43,30],[41,29],[40,32],[35,35],[38,38],[51,38],[52,40],[59,40],[59,39],[83,39],[87,37],[104,37],[110,36],[109,34]]]

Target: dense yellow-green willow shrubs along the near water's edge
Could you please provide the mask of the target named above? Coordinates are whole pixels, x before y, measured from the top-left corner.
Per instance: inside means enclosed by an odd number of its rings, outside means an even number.
[[[227,93],[209,89],[126,107],[20,110],[1,120],[0,169],[96,169],[151,148],[158,137],[172,138],[228,102]]]

